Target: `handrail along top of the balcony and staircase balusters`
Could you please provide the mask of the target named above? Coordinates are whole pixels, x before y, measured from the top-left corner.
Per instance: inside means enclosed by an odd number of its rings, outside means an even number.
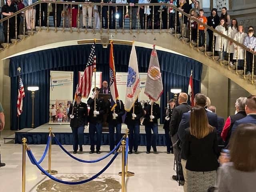
[[[34,4],[31,4],[29,6],[26,6],[25,8],[23,8],[22,10],[19,10],[17,12],[15,12],[13,15],[11,16],[7,16],[3,19],[0,20],[0,23],[1,22],[4,22],[22,12],[24,12],[25,10],[31,8],[31,7],[34,7],[36,6],[37,4],[41,4],[41,3],[54,3],[54,4],[72,4],[72,5],[98,5],[98,6],[110,6],[109,3],[88,3],[88,2],[61,2],[61,1],[40,1],[40,2],[36,2]],[[129,6],[129,4],[119,4],[119,3],[112,3],[111,6]],[[180,10],[179,8],[177,8],[176,6],[173,6],[173,5],[170,5],[168,3],[149,3],[149,4],[136,4],[136,6],[168,6],[168,7],[172,7],[174,10],[178,11],[178,12],[181,12],[184,16],[192,19],[192,20],[196,20],[196,22],[200,25],[203,25],[206,29],[210,29],[211,31],[213,31],[214,33],[226,38],[228,41],[230,42],[233,42],[234,44],[244,48],[244,50],[256,55],[256,53],[254,52],[251,52],[249,48],[247,48],[246,46],[244,46],[243,44],[240,44],[239,42],[233,40],[232,38],[218,32],[217,30],[215,30],[214,28],[212,27],[209,27],[207,24],[204,24],[203,22],[200,22],[200,20],[198,20],[197,18],[192,18],[189,14],[185,13],[184,11]]]

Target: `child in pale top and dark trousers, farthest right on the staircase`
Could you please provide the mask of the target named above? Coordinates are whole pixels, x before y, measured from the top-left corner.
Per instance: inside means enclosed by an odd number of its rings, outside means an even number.
[[[254,30],[250,29],[248,31],[248,36],[244,39],[244,46],[246,46],[248,49],[250,49],[251,52],[256,52],[256,38],[253,36]],[[246,74],[250,75],[252,70],[252,62],[254,55],[246,51]]]

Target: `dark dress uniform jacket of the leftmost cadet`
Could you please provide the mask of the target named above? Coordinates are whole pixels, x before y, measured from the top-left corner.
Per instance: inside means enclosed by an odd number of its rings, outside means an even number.
[[[87,104],[84,102],[80,102],[80,104],[74,104],[74,110],[73,110],[73,104],[70,105],[70,109],[68,112],[68,116],[72,114],[74,118],[70,119],[70,127],[77,128],[81,126],[86,126],[88,125],[88,108]]]

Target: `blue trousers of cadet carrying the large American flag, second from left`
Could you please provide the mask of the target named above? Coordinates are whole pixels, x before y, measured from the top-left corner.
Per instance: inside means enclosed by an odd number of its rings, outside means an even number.
[[[96,132],[96,151],[100,150],[100,145],[101,145],[101,134],[102,134],[102,123],[96,123],[96,124],[89,124],[89,135],[90,135],[90,143],[91,143],[91,151],[95,150],[95,140],[94,140],[94,135]]]

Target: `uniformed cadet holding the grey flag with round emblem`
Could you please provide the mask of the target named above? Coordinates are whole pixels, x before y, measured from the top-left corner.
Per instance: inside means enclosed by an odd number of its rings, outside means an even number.
[[[151,105],[153,105],[152,113],[151,113]],[[149,154],[151,150],[151,130],[153,130],[152,147],[154,152],[157,152],[156,140],[158,137],[157,125],[158,125],[158,118],[160,118],[160,107],[153,100],[150,100],[150,102],[144,104],[144,113],[145,113],[145,116],[144,116],[143,125],[145,126],[145,131],[146,131],[147,154]]]

